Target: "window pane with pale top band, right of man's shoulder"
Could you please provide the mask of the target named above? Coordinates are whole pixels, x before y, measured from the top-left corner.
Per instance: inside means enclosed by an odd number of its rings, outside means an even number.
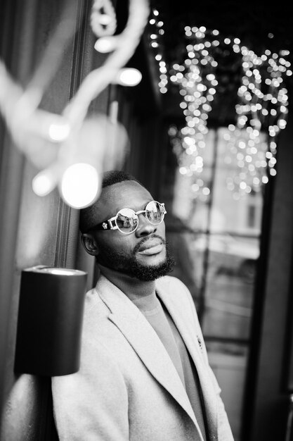
[[[256,243],[255,243],[256,242]],[[248,340],[257,240],[222,234],[209,236],[203,333]]]

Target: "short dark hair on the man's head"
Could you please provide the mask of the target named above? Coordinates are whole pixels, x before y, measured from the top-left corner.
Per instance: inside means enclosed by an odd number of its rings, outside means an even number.
[[[122,170],[109,170],[103,173],[102,188],[109,187],[110,185],[118,184],[126,180],[134,180],[138,184],[142,185],[133,175],[126,173]],[[96,225],[96,207],[98,201],[92,205],[87,206],[85,209],[81,209],[79,213],[79,230],[84,233],[89,231],[94,225]]]

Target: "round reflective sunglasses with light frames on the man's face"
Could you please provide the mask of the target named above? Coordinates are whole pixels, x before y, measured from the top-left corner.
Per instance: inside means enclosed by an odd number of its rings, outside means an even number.
[[[152,225],[159,225],[164,221],[167,213],[164,204],[157,201],[150,201],[144,210],[134,211],[131,209],[121,209],[113,218],[98,223],[91,230],[119,230],[124,235],[130,235],[138,228],[138,214],[144,214],[145,218]]]

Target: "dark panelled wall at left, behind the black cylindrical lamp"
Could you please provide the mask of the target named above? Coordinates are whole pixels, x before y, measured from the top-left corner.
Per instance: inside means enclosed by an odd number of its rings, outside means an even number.
[[[30,79],[64,5],[59,0],[2,2],[1,56],[22,85]],[[103,56],[93,51],[90,6],[90,1],[75,3],[79,32],[41,103],[48,111],[60,113],[82,77],[103,63]],[[105,90],[91,111],[106,113],[108,100]],[[1,440],[53,440],[50,379],[13,372],[20,274],[22,268],[37,264],[77,266],[78,212],[65,206],[57,191],[44,198],[32,192],[37,170],[15,149],[3,123],[0,128]],[[79,257],[78,265],[92,270],[86,258]]]

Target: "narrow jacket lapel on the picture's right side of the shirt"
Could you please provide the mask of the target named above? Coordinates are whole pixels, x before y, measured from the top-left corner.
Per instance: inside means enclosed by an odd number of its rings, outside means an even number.
[[[170,302],[170,293],[164,292],[162,285],[160,285],[159,290],[157,289],[157,293],[168,309],[169,314],[173,319],[176,328],[181,334],[191,358],[193,359],[198,377],[200,379],[202,395],[204,397],[204,406],[207,415],[207,423],[209,426],[209,436],[211,440],[217,440],[217,403],[215,391],[209,375],[209,367],[207,366],[207,362],[204,361],[204,354],[202,353],[202,348],[200,347],[200,341],[197,341],[197,330],[191,325],[191,323],[189,323],[189,321],[186,320],[183,312],[181,313],[180,301],[177,305]],[[180,293],[178,292],[177,294],[180,298]]]

